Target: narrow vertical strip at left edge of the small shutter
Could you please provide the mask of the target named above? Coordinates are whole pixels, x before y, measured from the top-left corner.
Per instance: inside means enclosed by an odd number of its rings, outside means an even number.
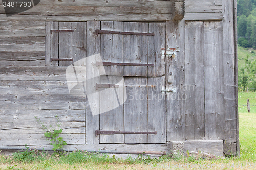
[[[52,22],[46,22],[46,58],[45,58],[45,66],[51,66],[51,34],[50,31],[52,29]]]

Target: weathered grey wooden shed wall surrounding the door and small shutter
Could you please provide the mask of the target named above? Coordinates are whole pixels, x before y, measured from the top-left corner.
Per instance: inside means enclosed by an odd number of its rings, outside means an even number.
[[[222,139],[239,147],[234,87],[236,2],[186,0],[181,21],[171,20],[173,1],[116,2],[41,1],[10,17],[0,5],[0,145],[47,145],[34,116],[50,122],[56,114],[68,144],[86,143],[85,97],[69,95],[66,67],[45,66],[45,21],[167,20],[166,46],[181,50],[167,61],[174,75],[167,80],[177,87],[194,86],[193,91],[178,89],[189,100],[167,96],[167,141]]]

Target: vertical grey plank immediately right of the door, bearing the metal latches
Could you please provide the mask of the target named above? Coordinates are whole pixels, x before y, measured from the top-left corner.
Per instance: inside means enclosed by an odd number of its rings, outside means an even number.
[[[179,48],[175,58],[166,58],[166,82],[169,88],[176,88],[176,94],[167,93],[166,132],[167,141],[185,140],[184,58],[185,58],[185,21],[166,22],[166,48]]]

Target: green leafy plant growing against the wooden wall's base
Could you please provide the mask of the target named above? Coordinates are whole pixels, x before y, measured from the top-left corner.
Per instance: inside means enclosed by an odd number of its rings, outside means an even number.
[[[59,137],[59,134],[62,132],[62,129],[60,129],[61,125],[60,125],[60,119],[58,117],[58,115],[55,116],[56,120],[57,120],[57,129],[53,128],[52,124],[49,125],[49,128],[47,127],[47,125],[45,125],[44,123],[41,122],[41,120],[38,117],[35,117],[35,119],[37,120],[37,122],[39,122],[42,125],[42,129],[45,131],[44,135],[46,138],[50,138],[49,140],[51,141],[51,145],[53,146],[53,151],[56,151],[58,149],[63,149],[63,147],[65,145],[67,145],[67,142],[63,140],[62,137]]]

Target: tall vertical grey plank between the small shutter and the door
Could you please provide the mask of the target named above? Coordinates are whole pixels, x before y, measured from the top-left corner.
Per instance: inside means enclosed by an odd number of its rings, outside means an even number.
[[[86,56],[94,57],[94,61],[99,60],[100,53],[100,36],[96,35],[94,31],[100,29],[100,21],[88,21],[86,26]],[[93,56],[94,55],[94,56]],[[90,57],[90,58],[91,58]],[[91,59],[93,60],[93,59]],[[95,63],[86,60],[87,80],[92,80],[86,83],[86,91],[89,92],[92,88],[96,89],[96,83],[100,83],[100,77],[94,77],[97,68]],[[100,113],[100,93],[95,92],[92,95],[92,101],[86,101],[86,144],[98,144],[99,136],[95,136],[95,131],[99,130],[99,113]],[[97,115],[92,114],[98,113]]]

